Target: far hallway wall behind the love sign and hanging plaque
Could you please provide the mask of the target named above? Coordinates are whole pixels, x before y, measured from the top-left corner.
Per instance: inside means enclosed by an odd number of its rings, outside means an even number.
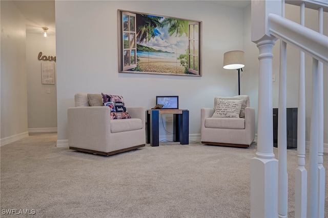
[[[29,132],[56,131],[57,129],[57,90],[55,84],[42,84],[41,63],[54,61],[38,60],[38,54],[56,56],[56,37],[40,34],[26,34],[26,68]],[[50,93],[47,93],[47,89]]]

